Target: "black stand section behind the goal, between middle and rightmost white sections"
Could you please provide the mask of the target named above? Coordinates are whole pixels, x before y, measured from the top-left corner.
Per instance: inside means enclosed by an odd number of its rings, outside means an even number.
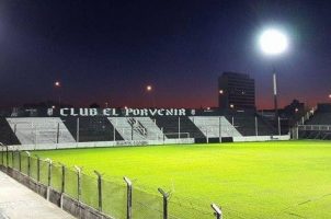
[[[153,119],[167,138],[205,138],[187,116],[157,116]]]

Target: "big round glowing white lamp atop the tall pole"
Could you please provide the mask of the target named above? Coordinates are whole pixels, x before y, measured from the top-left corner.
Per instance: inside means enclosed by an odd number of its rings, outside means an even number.
[[[276,28],[267,28],[259,38],[260,47],[265,55],[279,55],[288,48],[287,36]]]

